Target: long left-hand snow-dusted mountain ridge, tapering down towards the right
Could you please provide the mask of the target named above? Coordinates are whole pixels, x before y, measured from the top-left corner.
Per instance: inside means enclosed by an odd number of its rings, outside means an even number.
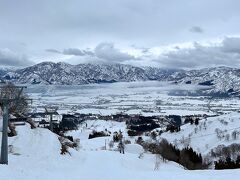
[[[128,82],[163,79],[170,71],[140,68],[122,64],[79,64],[43,62],[14,73],[5,79],[17,83],[88,84],[100,82]]]

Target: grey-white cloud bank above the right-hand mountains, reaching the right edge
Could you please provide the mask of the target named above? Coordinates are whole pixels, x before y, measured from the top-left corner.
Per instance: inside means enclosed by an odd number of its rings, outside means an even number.
[[[170,51],[154,59],[155,63],[164,68],[203,68],[214,66],[240,65],[240,38],[226,37],[220,44],[204,46],[194,43],[193,48]]]

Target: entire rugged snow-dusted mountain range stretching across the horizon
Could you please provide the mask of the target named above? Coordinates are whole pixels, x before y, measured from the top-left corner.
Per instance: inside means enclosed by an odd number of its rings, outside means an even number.
[[[79,64],[43,62],[24,69],[1,71],[3,79],[29,84],[89,84],[129,81],[173,81],[180,84],[200,84],[212,87],[209,92],[240,90],[240,69],[229,67],[200,70],[167,70],[155,67],[135,67],[123,64]]]

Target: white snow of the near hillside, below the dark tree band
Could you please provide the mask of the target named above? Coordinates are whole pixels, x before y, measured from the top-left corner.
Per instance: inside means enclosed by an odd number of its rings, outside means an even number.
[[[189,144],[197,151],[208,155],[211,149],[220,144],[229,145],[239,143],[239,138],[226,140],[226,134],[231,134],[239,124],[239,113],[226,114],[219,117],[208,118],[200,121],[195,130],[195,125],[184,125],[178,133],[163,133],[161,138],[166,138],[174,143],[184,137],[191,137]],[[223,121],[222,121],[223,120]],[[70,149],[70,154],[60,155],[61,145],[57,135],[47,129],[30,129],[28,125],[17,127],[18,135],[9,138],[9,165],[0,166],[0,179],[4,180],[50,180],[50,179],[216,179],[223,180],[231,175],[237,178],[239,170],[184,170],[174,162],[159,160],[156,169],[157,156],[144,152],[143,148],[135,144],[137,137],[127,136],[124,122],[113,121],[87,121],[79,130],[70,131],[67,135],[80,138],[80,149]],[[201,127],[201,128],[200,128]],[[205,129],[206,127],[206,129]],[[224,132],[225,137],[219,139],[215,129]],[[131,144],[126,145],[125,154],[117,151],[116,144],[109,147],[111,136],[88,139],[92,130],[111,132],[121,130],[126,140]],[[227,130],[227,131],[225,131]],[[196,131],[196,132],[195,132]],[[0,133],[1,138],[1,133]],[[147,139],[149,137],[145,137]],[[106,143],[107,142],[107,143]],[[106,144],[106,150],[105,150]],[[179,144],[178,147],[184,144]],[[207,146],[206,146],[207,145]],[[143,154],[142,154],[143,153]],[[141,155],[142,154],[142,155]],[[141,156],[140,156],[141,155]],[[174,176],[173,176],[174,173]]]

